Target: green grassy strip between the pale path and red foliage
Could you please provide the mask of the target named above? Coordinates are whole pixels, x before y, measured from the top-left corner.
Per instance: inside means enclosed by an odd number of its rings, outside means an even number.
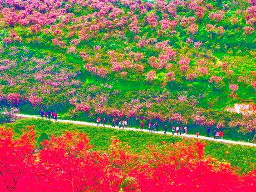
[[[22,130],[26,129],[26,125],[33,125],[37,132],[37,140],[45,134],[50,136],[61,135],[66,131],[86,132],[92,145],[93,150],[107,150],[113,138],[131,146],[134,152],[140,152],[147,149],[147,145],[162,145],[165,142],[190,142],[190,139],[174,137],[171,135],[150,134],[139,131],[113,130],[102,127],[80,126],[73,124],[63,124],[59,122],[51,122],[47,120],[22,119],[6,124],[6,127],[12,127],[17,136],[22,134]],[[192,139],[191,139],[192,140]],[[237,167],[239,173],[256,169],[256,147],[222,144],[220,142],[206,141],[205,155],[211,155],[220,161],[226,161],[233,167]]]

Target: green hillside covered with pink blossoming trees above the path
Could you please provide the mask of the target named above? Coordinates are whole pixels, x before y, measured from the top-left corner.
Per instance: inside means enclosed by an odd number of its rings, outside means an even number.
[[[254,0],[0,2],[2,106],[255,136]]]

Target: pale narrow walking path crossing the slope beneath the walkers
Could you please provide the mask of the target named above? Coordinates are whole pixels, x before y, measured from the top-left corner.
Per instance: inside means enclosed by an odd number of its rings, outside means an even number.
[[[40,116],[36,116],[36,115],[24,115],[24,114],[15,114],[15,116],[17,117],[21,117],[21,118],[33,118],[33,119],[42,119]],[[53,119],[51,119],[51,121],[54,121]],[[72,121],[72,120],[57,120],[54,122],[62,122],[62,123],[70,123],[70,124],[77,124],[77,125],[88,125],[88,126],[96,126],[97,124],[92,123],[92,122],[85,122],[85,121]],[[100,124],[99,127],[103,127],[103,124]],[[105,125],[105,127],[109,127],[112,129],[117,129],[119,130],[118,127],[112,127],[111,125]],[[120,130],[123,130],[122,128]],[[132,127],[127,127],[125,128],[125,130],[131,130],[131,131],[143,131],[143,132],[148,132],[148,130],[144,129],[144,130],[140,130],[140,129],[136,129],[136,128],[132,128]],[[158,131],[158,132],[153,132],[154,134],[164,134],[164,131]],[[167,133],[167,135],[172,135],[170,132]],[[179,136],[177,134],[174,134],[174,136]],[[212,137],[205,137],[205,136],[199,136],[196,137],[196,135],[181,135],[181,137],[189,137],[189,138],[194,138],[194,139],[203,139],[203,140],[209,140],[209,141],[215,141],[215,142],[224,142],[227,144],[237,144],[237,145],[245,145],[245,146],[254,146],[256,147],[256,144],[250,143],[250,142],[241,142],[241,141],[231,141],[231,140],[225,140],[225,139],[214,139]]]

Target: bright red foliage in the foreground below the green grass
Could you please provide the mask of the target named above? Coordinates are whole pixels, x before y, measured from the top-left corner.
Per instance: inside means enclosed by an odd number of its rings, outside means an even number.
[[[149,146],[131,154],[113,140],[107,153],[67,132],[34,150],[29,127],[18,140],[0,129],[0,190],[5,191],[253,191],[255,171],[238,176],[227,163],[204,157],[201,142]]]

